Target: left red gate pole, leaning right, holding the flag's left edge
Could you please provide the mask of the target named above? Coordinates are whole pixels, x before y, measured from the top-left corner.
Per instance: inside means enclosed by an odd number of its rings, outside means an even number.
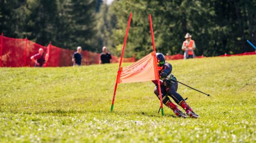
[[[125,49],[125,44],[126,44],[126,40],[127,40],[127,36],[128,36],[128,32],[129,32],[129,27],[130,27],[130,22],[131,22],[131,19],[132,19],[132,15],[133,14],[130,13],[128,24],[127,24],[127,28],[126,28],[126,33],[125,33],[125,37],[124,37],[124,41],[123,41],[123,49],[122,49],[122,54],[121,54],[121,58],[120,58],[119,68],[118,68],[118,72],[117,72],[117,76],[116,76],[116,85],[115,85],[115,89],[114,89],[114,94],[113,94],[113,99],[112,99],[112,104],[111,104],[111,110],[110,110],[111,112],[113,111],[113,108],[114,108],[116,89],[117,89],[117,80],[118,80],[118,77],[120,76],[120,73],[121,73],[121,65],[122,65],[122,60],[123,60],[123,53],[124,53],[124,49]]]

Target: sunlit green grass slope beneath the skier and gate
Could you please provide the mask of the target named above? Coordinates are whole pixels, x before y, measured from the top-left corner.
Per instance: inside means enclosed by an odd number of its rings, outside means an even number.
[[[0,142],[256,142],[256,56],[170,61],[200,115],[176,118],[154,84],[118,85],[118,64],[0,68]],[[123,64],[124,66],[129,63]]]

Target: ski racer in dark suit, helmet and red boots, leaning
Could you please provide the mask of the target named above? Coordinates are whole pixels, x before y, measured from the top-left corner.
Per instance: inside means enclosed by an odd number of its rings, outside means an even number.
[[[164,55],[162,53],[156,53],[157,55],[157,67],[160,78],[160,87],[162,93],[162,101],[167,107],[172,109],[177,117],[186,118],[187,116],[183,113],[177,105],[175,105],[172,101],[170,101],[169,97],[172,97],[173,100],[180,105],[187,113],[187,115],[191,118],[198,118],[199,116],[192,110],[190,106],[187,105],[185,99],[177,93],[178,90],[178,82],[172,81],[170,79],[177,80],[176,77],[172,74],[173,67],[169,63],[165,62]],[[154,93],[159,97],[158,91],[158,81],[153,80],[153,83],[156,85],[154,89]]]

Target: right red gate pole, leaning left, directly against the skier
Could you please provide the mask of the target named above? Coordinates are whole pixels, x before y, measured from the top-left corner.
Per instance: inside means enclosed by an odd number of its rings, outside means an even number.
[[[156,48],[155,48],[155,40],[154,40],[154,33],[153,33],[153,26],[152,26],[152,20],[151,20],[151,14],[148,14],[148,18],[150,20],[150,31],[151,31],[151,38],[152,38],[152,44],[153,44],[153,50],[156,53]],[[155,64],[157,64],[157,56],[155,54]],[[157,65],[155,65],[155,67],[157,67]],[[157,70],[158,71],[158,70]],[[160,97],[160,103],[161,103],[161,112],[162,112],[162,116],[164,115],[163,113],[163,101],[162,101],[162,93],[161,93],[161,87],[160,87],[160,81],[159,81],[159,75],[158,72],[157,73],[157,82],[158,82],[158,91],[159,91],[159,97]]]

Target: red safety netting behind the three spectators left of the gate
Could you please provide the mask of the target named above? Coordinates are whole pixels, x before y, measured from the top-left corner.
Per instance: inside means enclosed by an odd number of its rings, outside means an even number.
[[[16,39],[0,36],[0,67],[33,67],[30,57],[38,53],[39,48],[49,54],[49,60],[45,64],[48,67],[72,66],[72,56],[75,50],[63,49],[52,45],[46,47],[28,39]],[[98,64],[100,53],[83,50],[82,65]],[[117,63],[120,58],[112,55],[112,63]],[[135,62],[133,58],[123,58],[123,62]]]

